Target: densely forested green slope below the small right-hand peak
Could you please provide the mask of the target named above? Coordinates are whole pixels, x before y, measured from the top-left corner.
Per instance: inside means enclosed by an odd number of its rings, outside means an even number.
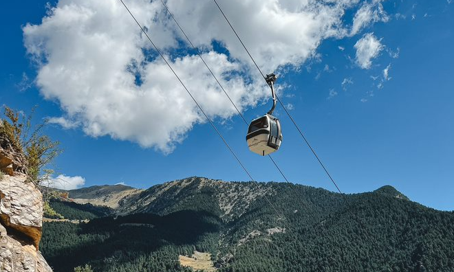
[[[286,214],[285,234],[237,247],[221,271],[454,271],[453,213],[374,193],[340,204],[326,216]]]

